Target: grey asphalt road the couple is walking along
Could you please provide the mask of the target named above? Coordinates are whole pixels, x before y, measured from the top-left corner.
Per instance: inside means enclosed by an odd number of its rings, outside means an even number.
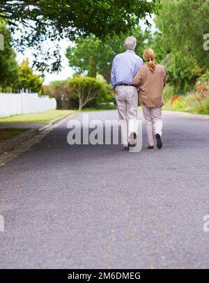
[[[164,114],[140,153],[70,146],[66,123],[0,167],[0,268],[209,268],[209,121]]]

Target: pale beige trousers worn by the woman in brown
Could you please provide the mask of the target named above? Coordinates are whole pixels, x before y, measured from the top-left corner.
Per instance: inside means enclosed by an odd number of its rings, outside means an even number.
[[[153,132],[162,135],[162,107],[149,108],[142,105],[144,118],[146,120],[146,132],[148,143],[150,146],[154,145]]]

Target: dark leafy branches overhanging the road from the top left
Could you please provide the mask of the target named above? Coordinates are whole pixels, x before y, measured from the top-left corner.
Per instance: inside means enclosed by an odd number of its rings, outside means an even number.
[[[75,40],[77,36],[98,38],[127,33],[139,20],[154,13],[160,0],[3,0],[0,3],[1,18],[8,20],[11,31],[21,32],[20,40],[15,40],[18,49],[36,46],[34,56],[42,53],[42,63],[36,66],[48,67],[47,61],[54,59],[52,71],[59,70],[61,57],[59,45],[50,53],[42,51],[42,41],[47,38],[55,41],[61,38]],[[24,32],[22,32],[24,31]]]

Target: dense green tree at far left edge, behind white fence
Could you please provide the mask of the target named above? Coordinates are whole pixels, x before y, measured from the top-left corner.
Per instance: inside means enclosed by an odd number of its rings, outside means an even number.
[[[6,22],[0,20],[0,34],[3,35],[3,50],[0,51],[0,85],[4,89],[7,86],[13,87],[18,80],[18,66],[15,60],[15,52],[11,47],[10,31]]]

